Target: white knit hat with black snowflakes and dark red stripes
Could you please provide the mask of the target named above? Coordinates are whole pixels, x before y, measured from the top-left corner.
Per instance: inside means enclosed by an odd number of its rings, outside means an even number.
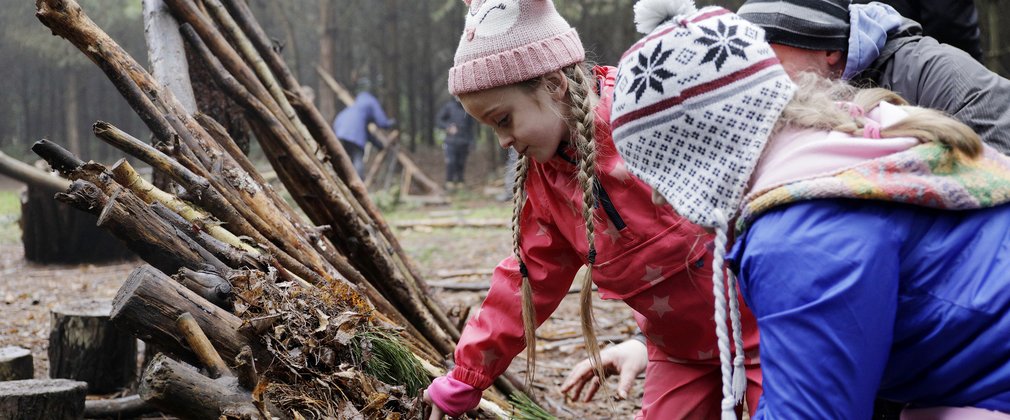
[[[796,86],[765,31],[719,7],[642,0],[648,33],[621,58],[611,111],[628,169],[688,220],[731,219]]]

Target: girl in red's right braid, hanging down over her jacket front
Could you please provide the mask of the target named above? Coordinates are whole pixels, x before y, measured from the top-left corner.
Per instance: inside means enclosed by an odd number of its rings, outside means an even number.
[[[592,86],[590,78],[582,66],[565,69],[569,78],[568,99],[571,103],[571,126],[573,139],[579,156],[579,185],[583,190],[582,217],[586,221],[586,240],[589,242],[589,268],[583,277],[582,290],[579,292],[579,307],[582,317],[583,338],[586,349],[596,375],[603,384],[605,378],[603,361],[600,358],[600,343],[596,339],[596,329],[593,319],[593,266],[596,262],[596,241],[594,235],[593,209],[596,207],[596,135],[593,112]]]

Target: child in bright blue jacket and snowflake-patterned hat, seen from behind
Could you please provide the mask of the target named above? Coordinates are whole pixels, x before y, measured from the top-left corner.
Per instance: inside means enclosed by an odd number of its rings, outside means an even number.
[[[1010,159],[893,92],[794,82],[725,9],[643,3],[613,135],[659,202],[715,231],[723,418],[737,276],[761,331],[754,418],[867,419],[878,398],[1010,418]]]

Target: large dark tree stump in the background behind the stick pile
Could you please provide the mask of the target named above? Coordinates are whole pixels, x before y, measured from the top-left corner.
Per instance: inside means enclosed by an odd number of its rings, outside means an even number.
[[[95,225],[95,215],[56,201],[55,193],[35,186],[21,192],[24,259],[41,264],[80,264],[134,257],[122,241]]]

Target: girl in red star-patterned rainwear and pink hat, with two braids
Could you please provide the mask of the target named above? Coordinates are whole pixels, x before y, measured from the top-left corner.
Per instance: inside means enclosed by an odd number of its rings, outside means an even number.
[[[628,174],[617,154],[609,123],[614,69],[585,66],[576,30],[551,1],[468,4],[448,88],[468,113],[494,128],[503,147],[520,154],[514,255],[495,270],[487,298],[463,331],[454,369],[425,391],[433,403],[431,418],[476,407],[482,391],[524,346],[531,381],[535,327],[558,307],[584,265],[583,330],[598,371],[593,283],[604,299],[628,303],[647,337],[640,418],[709,419],[727,407],[731,413],[747,383],[748,407],[756,407],[761,369],[753,317],[733,304],[734,287],[713,287],[711,235],[670,206],[653,205],[650,189]],[[737,321],[733,390],[724,380],[731,357],[727,292]],[[727,361],[723,370],[720,357]]]

